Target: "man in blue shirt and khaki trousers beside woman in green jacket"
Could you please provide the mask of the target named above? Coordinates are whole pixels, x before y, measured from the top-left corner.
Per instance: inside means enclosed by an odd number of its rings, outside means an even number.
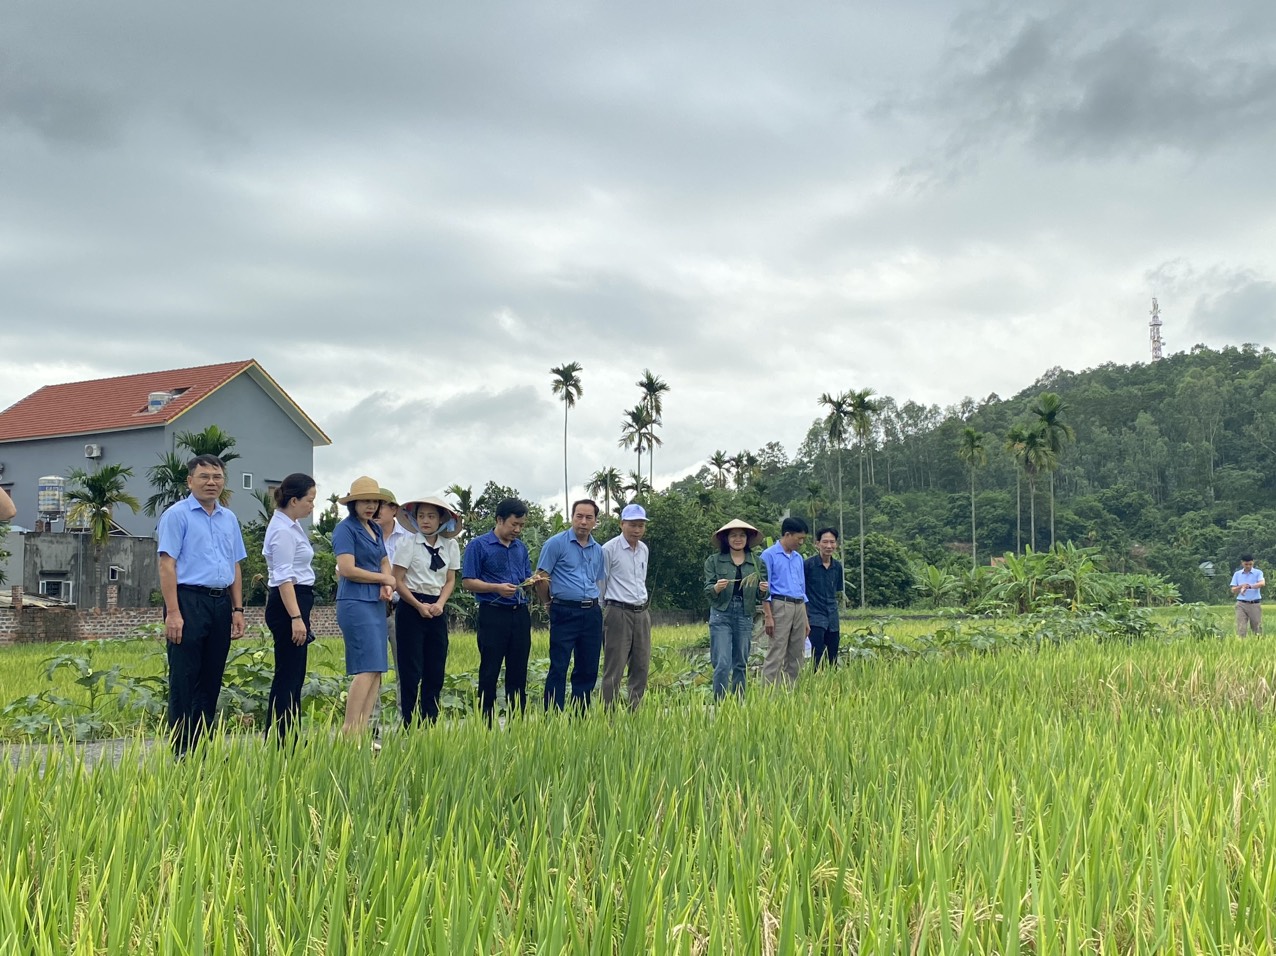
[[[806,619],[806,569],[798,551],[809,528],[801,518],[785,518],[780,540],[762,553],[771,590],[762,604],[766,623],[767,656],[762,661],[762,679],[768,684],[798,680],[810,623]]]

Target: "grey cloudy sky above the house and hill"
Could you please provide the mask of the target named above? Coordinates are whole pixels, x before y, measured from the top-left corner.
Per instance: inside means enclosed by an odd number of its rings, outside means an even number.
[[[1276,346],[1276,4],[8,3],[0,407],[258,359],[322,491]],[[226,422],[234,433],[234,422]],[[646,470],[646,468],[644,468]],[[402,489],[402,490],[401,490]]]

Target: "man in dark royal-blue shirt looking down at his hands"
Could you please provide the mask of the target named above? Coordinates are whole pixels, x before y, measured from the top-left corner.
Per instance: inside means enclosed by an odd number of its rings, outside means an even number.
[[[491,726],[496,680],[505,665],[505,703],[527,710],[527,657],[532,651],[532,616],[523,582],[532,576],[522,542],[527,505],[507,498],[496,505],[496,526],[468,545],[461,562],[461,586],[478,602],[478,701]]]

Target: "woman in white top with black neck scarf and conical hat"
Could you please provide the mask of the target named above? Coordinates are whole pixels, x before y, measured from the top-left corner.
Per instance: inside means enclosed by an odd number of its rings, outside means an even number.
[[[448,664],[447,604],[461,569],[461,516],[439,495],[404,502],[399,525],[410,535],[394,551],[394,610],[398,633],[399,710],[403,726],[439,719]]]

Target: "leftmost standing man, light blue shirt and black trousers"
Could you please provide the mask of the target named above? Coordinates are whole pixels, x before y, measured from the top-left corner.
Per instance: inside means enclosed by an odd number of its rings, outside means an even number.
[[[221,458],[200,454],[186,466],[190,495],[160,516],[160,594],[168,639],[168,729],[177,756],[217,716],[231,641],[244,637],[239,518],[219,503]]]

